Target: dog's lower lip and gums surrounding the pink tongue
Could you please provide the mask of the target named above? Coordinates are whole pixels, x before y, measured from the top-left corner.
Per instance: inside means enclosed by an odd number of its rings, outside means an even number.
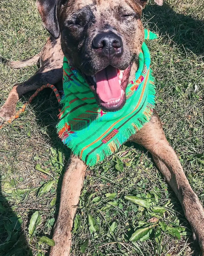
[[[125,104],[125,100],[126,100],[125,89],[127,87],[128,81],[129,81],[131,66],[132,66],[132,63],[125,70],[120,70],[117,68],[118,77],[120,76],[119,82],[120,82],[120,86],[121,86],[121,97],[117,98],[116,100],[112,99],[108,102],[104,102],[103,100],[101,100],[99,95],[96,93],[96,77],[95,77],[95,75],[86,76],[86,80],[90,86],[90,89],[95,94],[97,104],[102,109],[107,110],[107,111],[117,111],[123,107],[123,105]]]

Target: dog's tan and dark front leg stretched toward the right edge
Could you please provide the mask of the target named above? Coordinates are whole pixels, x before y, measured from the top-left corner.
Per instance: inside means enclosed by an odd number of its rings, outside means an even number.
[[[204,256],[204,210],[184,174],[183,168],[173,148],[165,138],[161,122],[156,112],[136,135],[131,138],[152,154],[155,163],[174,190],[189,221],[193,238],[198,239]]]

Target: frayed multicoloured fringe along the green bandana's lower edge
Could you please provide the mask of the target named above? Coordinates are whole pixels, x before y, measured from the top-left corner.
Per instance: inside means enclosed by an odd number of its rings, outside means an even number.
[[[152,70],[150,69],[149,72],[149,92],[148,92],[148,99],[147,99],[147,106],[145,110],[143,111],[142,115],[137,118],[135,122],[133,122],[119,138],[113,138],[113,140],[106,144],[106,148],[101,150],[99,154],[96,154],[95,156],[88,156],[86,159],[86,155],[82,153],[81,159],[89,166],[94,166],[98,162],[101,162],[106,158],[107,156],[110,156],[111,154],[115,153],[119,147],[127,141],[131,135],[134,135],[137,131],[139,131],[145,123],[147,123],[152,115],[154,106],[155,106],[155,83],[154,83],[154,77],[152,76]],[[66,133],[66,127],[63,132],[59,131],[62,127],[57,125],[58,135],[61,138],[62,142],[67,145],[75,155],[80,156],[82,148],[79,146],[76,146],[74,144],[74,141],[70,138],[70,136],[67,136]]]

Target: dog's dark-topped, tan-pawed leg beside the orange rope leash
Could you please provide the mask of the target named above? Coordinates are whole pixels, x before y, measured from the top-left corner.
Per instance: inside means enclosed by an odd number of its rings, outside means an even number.
[[[62,66],[62,65],[61,65]],[[0,109],[0,123],[1,120],[7,121],[16,112],[16,103],[19,98],[32,90],[40,88],[43,84],[56,84],[62,80],[62,67],[57,66],[53,69],[41,67],[37,72],[27,81],[18,83],[11,89],[8,98]]]

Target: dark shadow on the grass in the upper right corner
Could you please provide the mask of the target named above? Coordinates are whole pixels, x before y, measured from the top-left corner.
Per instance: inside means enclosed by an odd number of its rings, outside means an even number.
[[[176,44],[196,55],[204,55],[204,21],[189,15],[177,14],[167,4],[163,6],[147,5],[143,15],[148,26],[159,34],[167,35]],[[181,47],[182,49],[182,47]]]

